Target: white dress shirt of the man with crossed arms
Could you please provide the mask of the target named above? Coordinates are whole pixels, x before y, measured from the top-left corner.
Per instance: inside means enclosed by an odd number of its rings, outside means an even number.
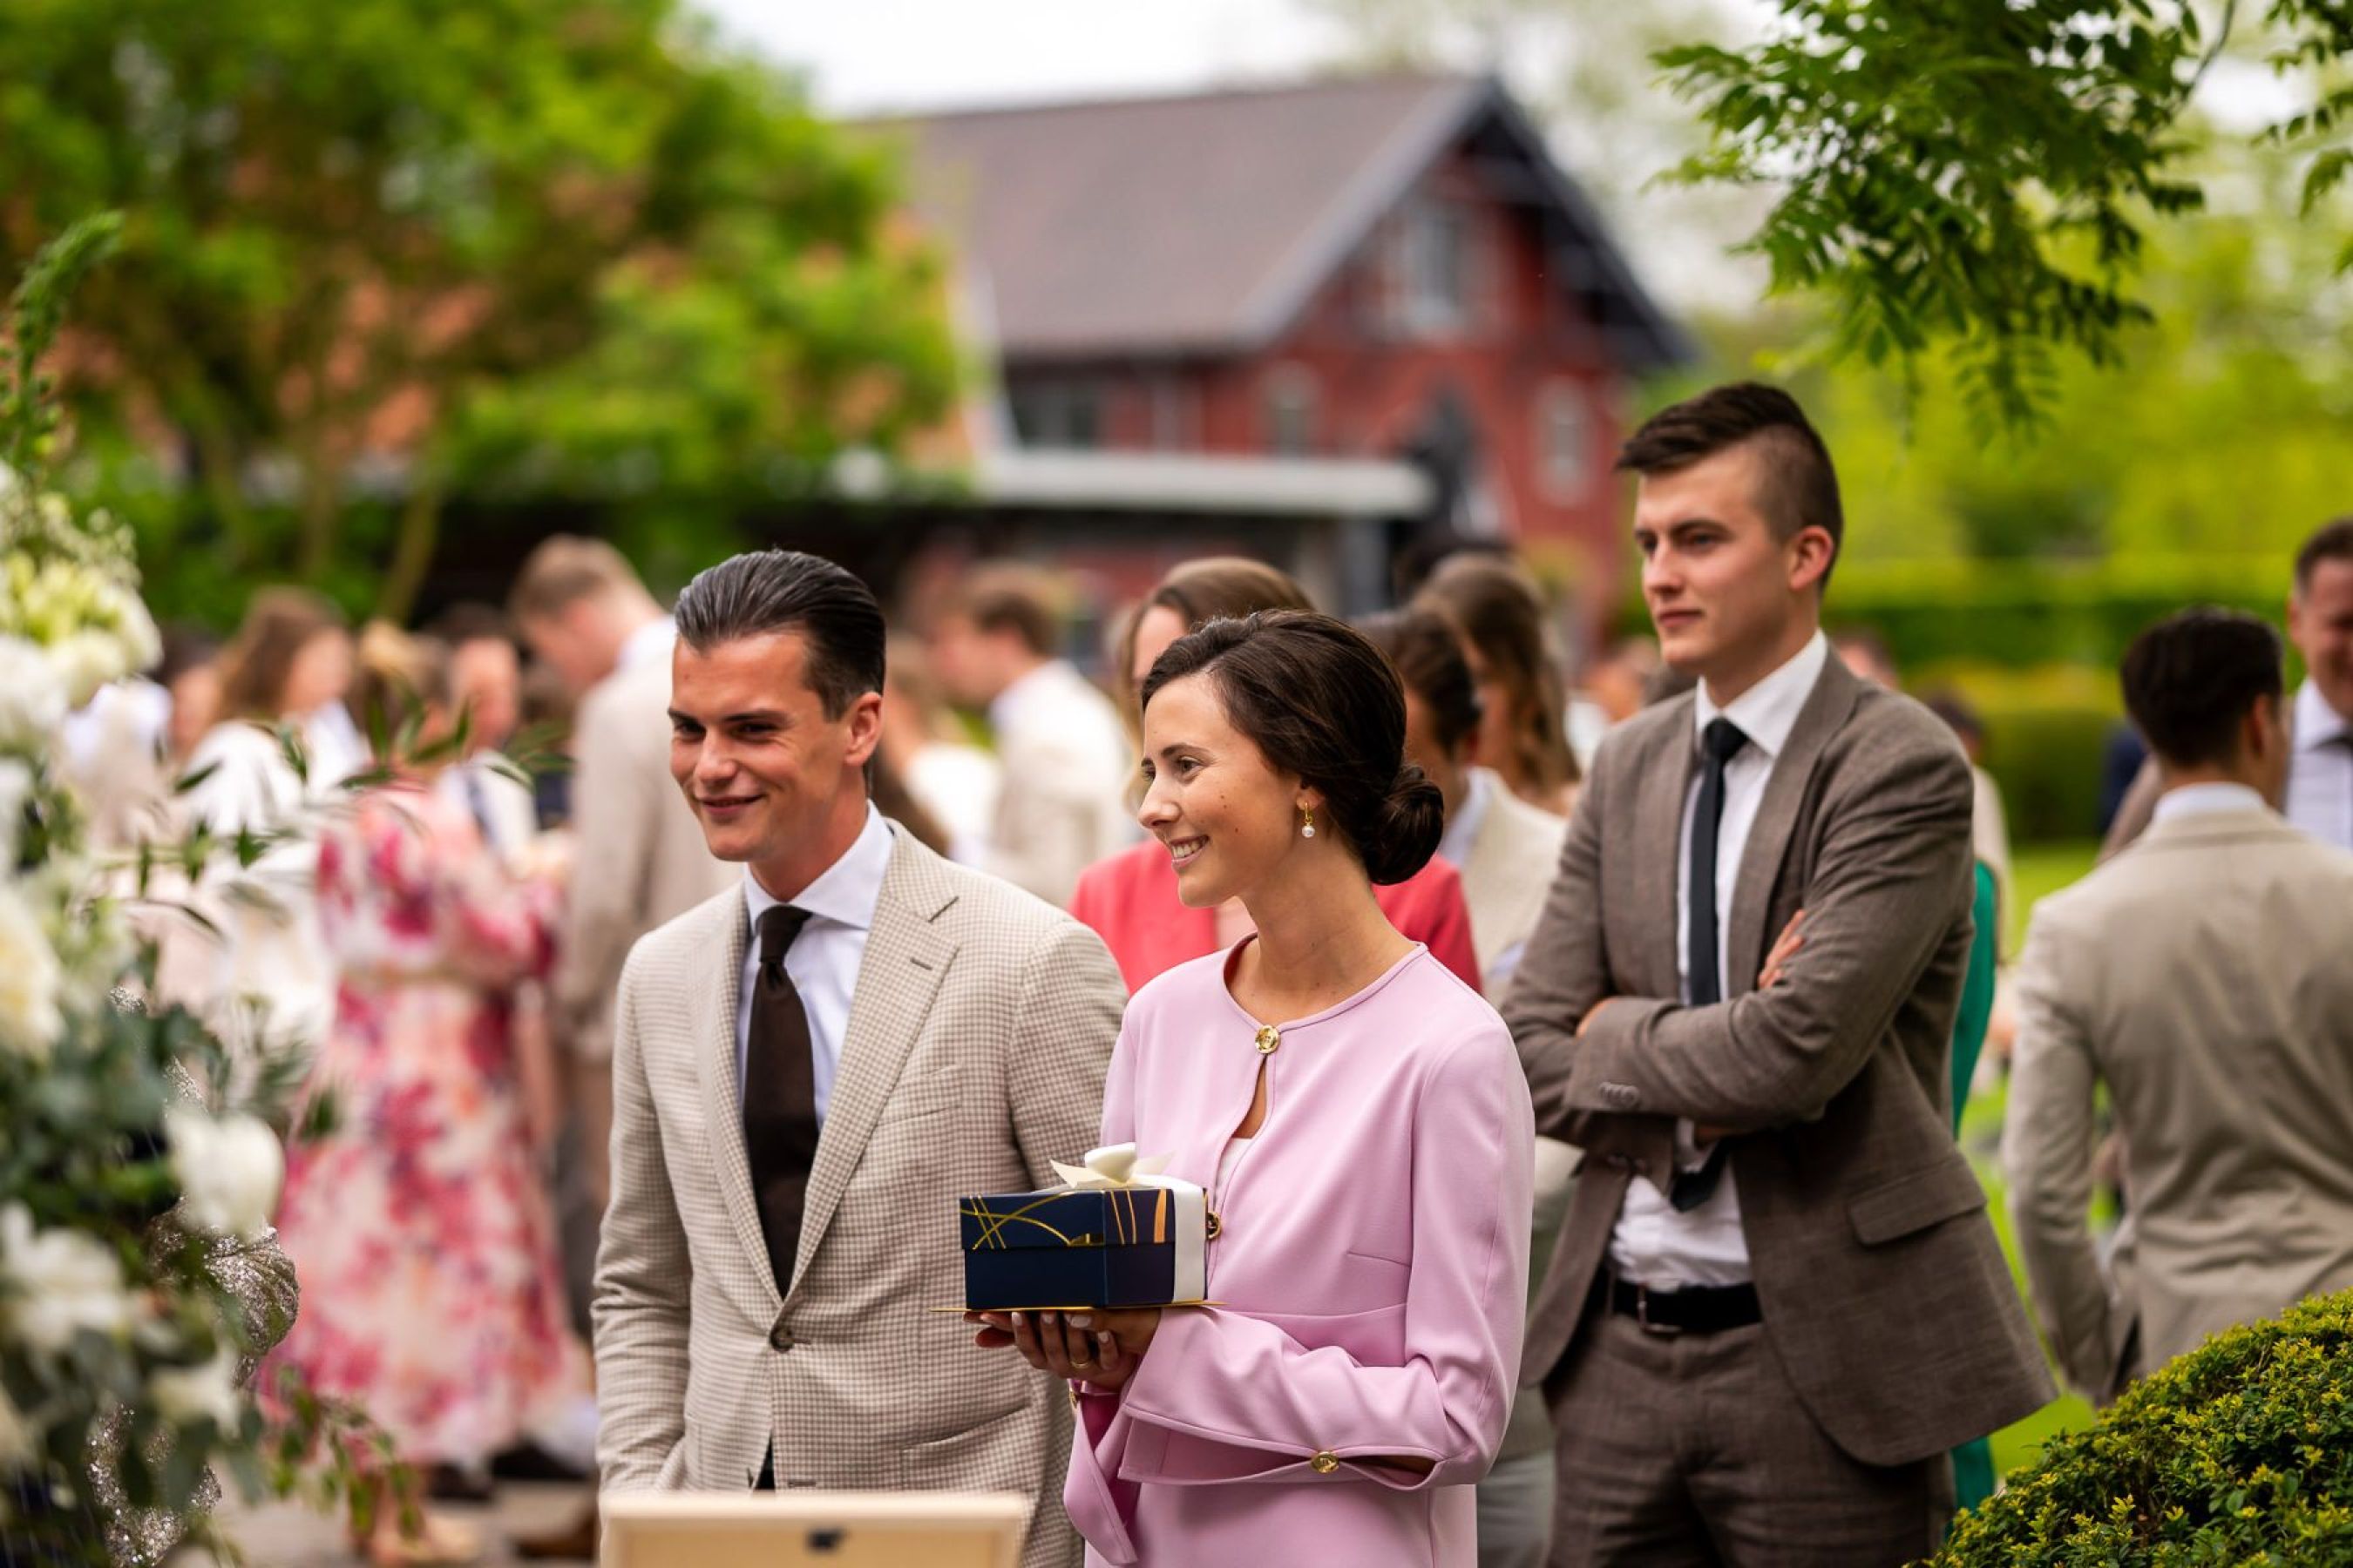
[[[1741,875],[1741,853],[1748,849],[1748,830],[1765,804],[1765,780],[1772,778],[1774,762],[1788,745],[1788,731],[1798,726],[1805,701],[1814,696],[1814,682],[1831,658],[1831,644],[1821,632],[1798,649],[1798,656],[1718,708],[1708,701],[1701,682],[1692,703],[1692,748],[1718,717],[1732,719],[1748,745],[1725,764],[1725,820],[1715,837],[1715,952],[1704,961],[1715,964],[1718,994],[1729,999],[1732,976],[1725,971],[1725,943],[1732,936],[1732,891]],[[1692,999],[1692,818],[1699,811],[1699,769],[1692,769],[1692,788],[1682,799],[1682,844],[1675,851],[1675,971],[1682,978],[1682,999]],[[1692,1135],[1689,1121],[1675,1121],[1675,1157],[1685,1168],[1706,1159]],[[1609,1237],[1609,1265],[1619,1276],[1654,1288],[1675,1286],[1737,1286],[1748,1281],[1748,1239],[1741,1234],[1741,1194],[1725,1166],[1722,1180],[1706,1204],[1678,1213],[1666,1194],[1647,1180],[1626,1187],[1619,1208],[1617,1232]]]

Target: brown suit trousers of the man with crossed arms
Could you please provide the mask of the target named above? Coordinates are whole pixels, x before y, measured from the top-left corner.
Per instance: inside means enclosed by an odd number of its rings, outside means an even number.
[[[1584,1338],[1551,1389],[1553,1568],[1897,1568],[1944,1544],[1953,1462],[1847,1455],[1762,1326],[1654,1335],[1598,1314]]]

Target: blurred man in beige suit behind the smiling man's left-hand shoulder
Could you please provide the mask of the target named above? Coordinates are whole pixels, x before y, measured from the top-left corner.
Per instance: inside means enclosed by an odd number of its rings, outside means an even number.
[[[734,886],[671,783],[671,618],[602,538],[558,534],[506,602],[532,656],[579,696],[572,726],[576,865],[551,1004],[584,1201],[605,1213],[612,1140],[612,999],[631,943]]]

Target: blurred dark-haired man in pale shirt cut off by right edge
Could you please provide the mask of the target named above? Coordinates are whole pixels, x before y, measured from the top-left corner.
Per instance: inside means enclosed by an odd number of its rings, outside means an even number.
[[[2353,849],[2353,517],[2322,524],[2297,550],[2287,639],[2304,656],[2304,684],[2287,710],[2280,813],[2322,844]],[[2151,757],[2115,809],[2101,860],[2148,830],[2162,790]]]

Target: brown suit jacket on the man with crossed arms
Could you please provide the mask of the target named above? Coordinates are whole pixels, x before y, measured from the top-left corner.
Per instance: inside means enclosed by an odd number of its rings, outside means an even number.
[[[1807,1410],[1864,1462],[1922,1460],[2052,1396],[1946,1110],[1969,766],[1925,708],[1828,661],[1741,856],[1732,994],[1682,1006],[1675,856],[1694,750],[1689,696],[1602,743],[1504,1006],[1537,1131],[1586,1150],[1527,1368],[1558,1387],[1626,1182],[1664,1187],[1689,1117],[1734,1128],[1765,1335]],[[1805,950],[1755,990],[1800,907]],[[1605,997],[1619,1001],[1579,1039]]]

